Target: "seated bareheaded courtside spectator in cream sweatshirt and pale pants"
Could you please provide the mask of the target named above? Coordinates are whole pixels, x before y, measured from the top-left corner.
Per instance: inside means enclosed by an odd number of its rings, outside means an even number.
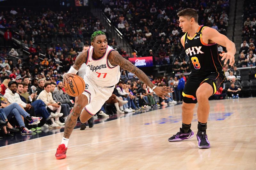
[[[58,104],[60,102],[57,103],[52,98],[51,84],[49,82],[45,83],[44,90],[38,95],[36,100],[42,100],[50,110],[55,111],[55,114],[63,115],[63,113],[60,113],[61,106]],[[62,125],[63,123],[59,121],[59,117],[55,117],[55,124]]]

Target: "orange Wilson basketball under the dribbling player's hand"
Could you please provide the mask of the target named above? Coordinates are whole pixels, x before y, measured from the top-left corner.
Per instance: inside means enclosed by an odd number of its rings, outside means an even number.
[[[65,91],[68,93],[69,96],[79,96],[84,92],[85,88],[85,82],[84,80],[79,77],[78,75],[75,75],[75,77],[69,77],[71,80],[69,83],[65,82]]]

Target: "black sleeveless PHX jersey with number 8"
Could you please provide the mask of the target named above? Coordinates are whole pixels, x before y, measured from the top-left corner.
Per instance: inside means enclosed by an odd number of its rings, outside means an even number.
[[[202,40],[204,28],[201,25],[193,38],[188,37],[188,32],[184,35],[184,48],[190,59],[189,68],[192,73],[222,72],[217,44],[205,44]]]

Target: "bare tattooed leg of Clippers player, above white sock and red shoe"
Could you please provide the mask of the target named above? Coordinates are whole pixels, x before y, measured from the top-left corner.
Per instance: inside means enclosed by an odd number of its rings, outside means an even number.
[[[69,138],[74,127],[76,126],[76,121],[79,115],[81,114],[83,108],[87,105],[88,99],[85,95],[80,95],[76,97],[75,105],[72,113],[68,115],[65,129],[64,129],[64,138]]]

